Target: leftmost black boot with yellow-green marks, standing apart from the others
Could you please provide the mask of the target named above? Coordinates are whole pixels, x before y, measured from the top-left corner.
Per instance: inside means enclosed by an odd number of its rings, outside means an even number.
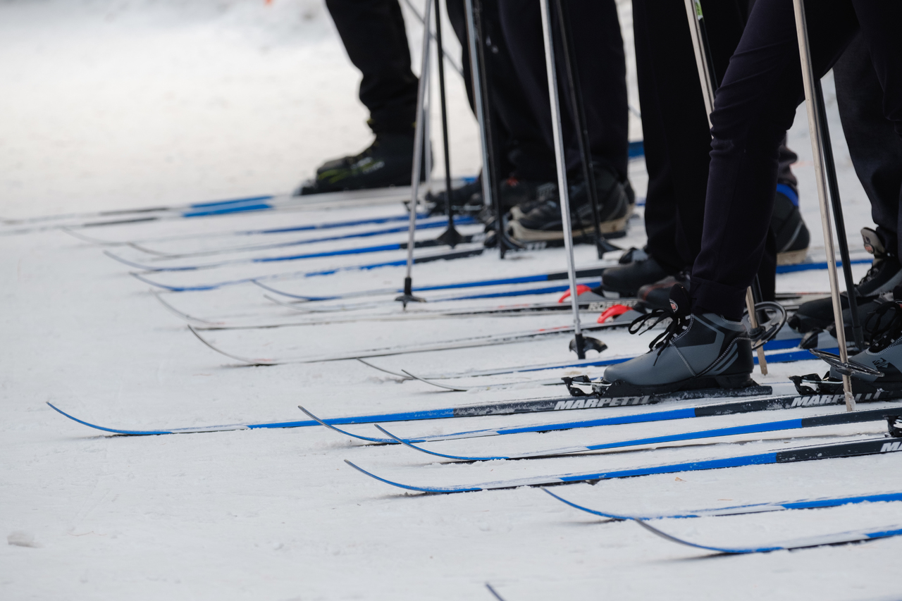
[[[364,152],[325,162],[297,195],[410,186],[413,134],[376,134]]]

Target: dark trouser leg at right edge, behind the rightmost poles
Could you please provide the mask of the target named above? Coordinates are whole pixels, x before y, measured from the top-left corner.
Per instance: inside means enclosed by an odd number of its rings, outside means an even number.
[[[883,116],[883,89],[861,34],[833,66],[836,100],[851,162],[870,200],[870,214],[891,254],[902,256],[902,139]]]

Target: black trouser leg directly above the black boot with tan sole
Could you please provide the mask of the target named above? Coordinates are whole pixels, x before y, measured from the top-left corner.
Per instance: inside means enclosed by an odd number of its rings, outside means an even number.
[[[525,92],[521,101],[529,107],[547,149],[540,162],[532,161],[540,163],[535,164],[533,171],[524,173],[525,170],[517,165],[518,174],[532,180],[555,180],[551,105],[538,0],[498,1],[504,40],[511,51],[520,87]],[[567,8],[575,46],[573,59],[584,97],[589,151],[593,161],[609,165],[621,180],[626,180],[629,116],[626,62],[617,7],[613,0],[567,0]],[[558,35],[557,13],[552,10],[552,14],[566,165],[568,171],[580,173],[581,157],[566,86],[563,47]]]

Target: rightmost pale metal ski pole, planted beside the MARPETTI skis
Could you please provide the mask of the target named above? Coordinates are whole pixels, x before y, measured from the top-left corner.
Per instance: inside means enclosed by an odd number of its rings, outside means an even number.
[[[845,328],[842,327],[842,301],[840,300],[839,278],[836,274],[836,251],[833,249],[833,225],[830,222],[830,208],[827,206],[827,185],[824,179],[824,140],[822,122],[824,115],[818,110],[815,99],[815,69],[811,64],[811,49],[808,46],[808,25],[805,22],[803,0],[793,0],[796,11],[796,35],[798,53],[802,63],[802,82],[805,85],[805,106],[808,109],[808,130],[811,134],[811,151],[815,159],[815,180],[817,199],[821,206],[821,225],[824,227],[824,249],[827,254],[827,275],[830,277],[830,296],[833,299],[833,319],[836,320],[836,339],[840,343],[840,360],[849,362],[849,350],[845,346]],[[853,293],[854,290],[850,291]],[[842,391],[845,393],[846,411],[855,411],[855,398],[851,394],[851,377],[842,375]]]

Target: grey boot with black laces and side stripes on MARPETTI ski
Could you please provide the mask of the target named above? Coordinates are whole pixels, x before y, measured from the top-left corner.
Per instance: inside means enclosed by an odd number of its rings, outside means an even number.
[[[605,394],[672,393],[701,388],[743,388],[751,379],[754,362],[749,333],[741,321],[730,321],[714,313],[692,315],[689,295],[675,285],[670,307],[652,311],[630,326],[639,328],[670,319],[667,329],[652,340],[648,353],[604,371]]]

